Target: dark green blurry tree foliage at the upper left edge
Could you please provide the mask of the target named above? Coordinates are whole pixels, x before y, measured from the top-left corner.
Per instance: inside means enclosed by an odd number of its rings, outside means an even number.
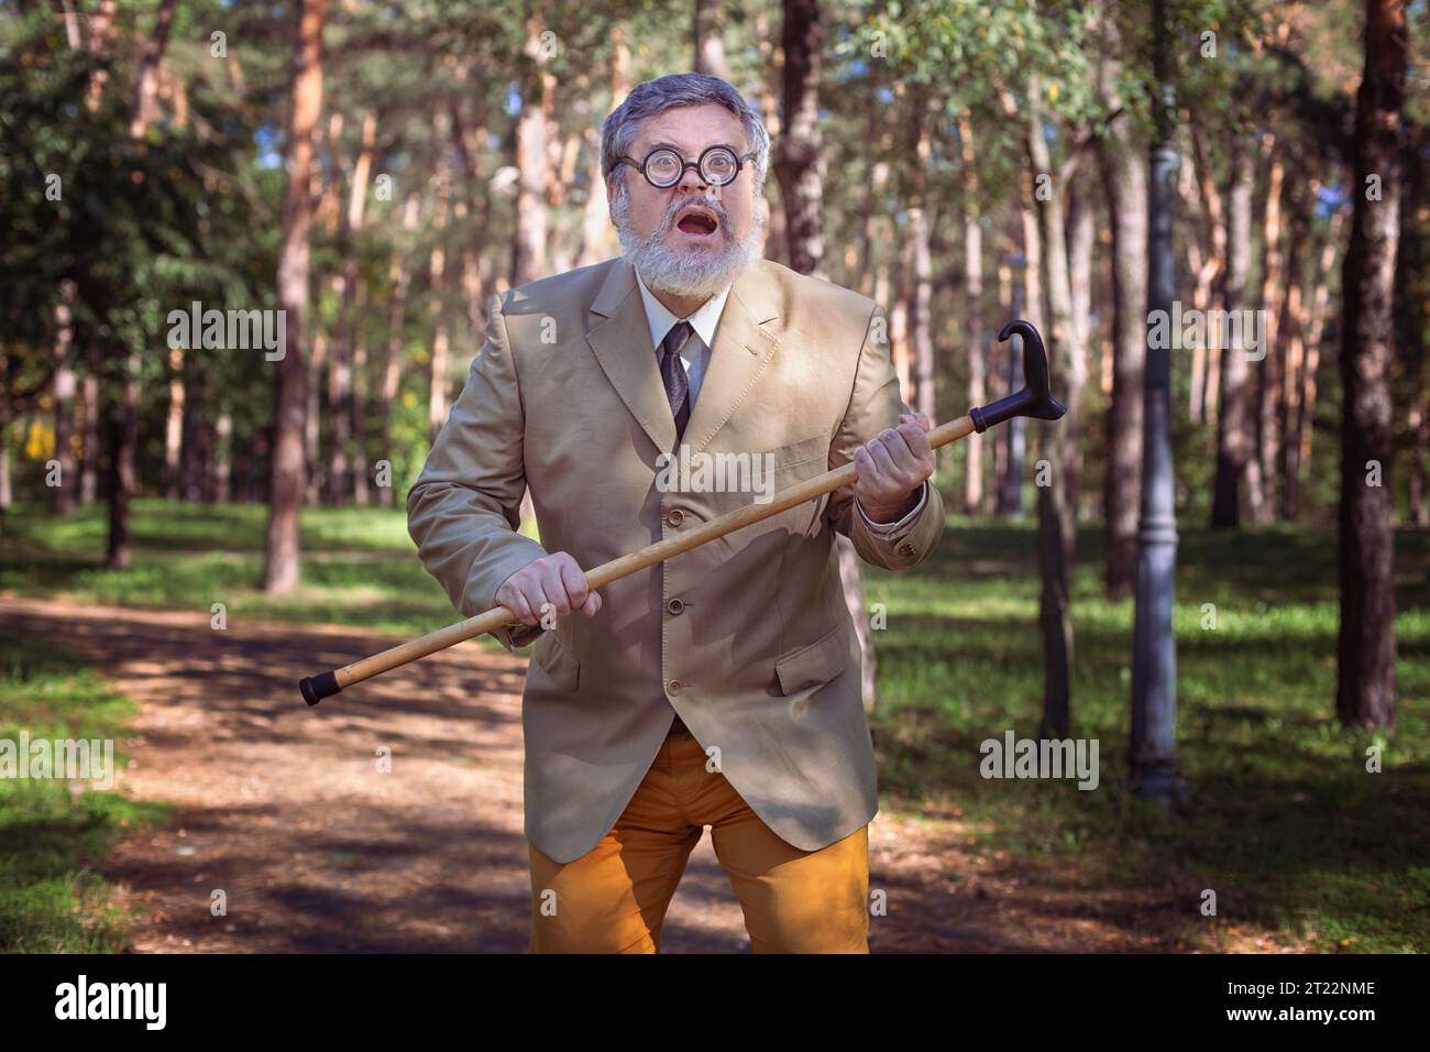
[[[100,73],[107,87],[90,106]],[[72,282],[76,356],[106,392],[136,375],[152,439],[167,405],[169,312],[192,301],[272,306],[275,236],[253,236],[245,113],[200,79],[183,127],[163,119],[132,140],[124,82],[112,60],[70,50],[47,17],[0,23],[0,326],[11,375],[43,375],[61,283]],[[259,392],[270,381],[245,354],[209,352],[189,366],[196,399],[207,391],[226,401],[240,434],[269,418]]]

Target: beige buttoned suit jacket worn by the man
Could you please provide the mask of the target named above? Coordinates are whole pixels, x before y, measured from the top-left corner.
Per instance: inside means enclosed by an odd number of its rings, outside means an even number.
[[[875,321],[878,323],[875,323]],[[874,301],[761,260],[731,289],[682,442],[772,454],[774,490],[852,458],[907,406]],[[486,341],[408,495],[423,565],[465,615],[542,555],[592,568],[755,501],[665,491],[675,421],[625,259],[493,298]],[[771,461],[764,461],[771,462]],[[531,488],[542,542],[522,537]],[[754,812],[815,850],[878,812],[834,531],[868,562],[907,570],[944,530],[927,502],[898,540],[872,532],[849,490],[602,588],[603,605],[541,627],[522,698],[526,837],[556,862],[615,824],[675,713]]]

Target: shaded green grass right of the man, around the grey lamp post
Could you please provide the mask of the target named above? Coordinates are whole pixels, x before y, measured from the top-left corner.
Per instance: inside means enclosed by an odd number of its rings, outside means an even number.
[[[1101,781],[985,780],[978,744],[1038,737],[1035,531],[951,520],[915,574],[871,570],[881,789],[895,810],[958,814],[972,850],[1075,867],[1093,886],[1157,887],[1200,943],[1253,920],[1351,952],[1430,950],[1430,534],[1397,535],[1399,723],[1343,733],[1336,698],[1336,548],[1323,531],[1185,530],[1177,577],[1180,776],[1167,813],[1127,790],[1131,601],[1101,588],[1100,538],[1074,578],[1072,737]],[[1216,604],[1216,630],[1203,604]],[[1366,749],[1384,746],[1384,770]],[[1217,920],[1198,915],[1217,892]]]

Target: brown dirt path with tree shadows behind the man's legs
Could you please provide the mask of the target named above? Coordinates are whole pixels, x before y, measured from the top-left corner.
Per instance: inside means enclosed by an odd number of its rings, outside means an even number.
[[[395,638],[0,597],[0,630],[63,640],[140,703],[120,786],[177,804],[103,873],[139,952],[523,952],[521,690],[526,660],[462,644],[316,708],[302,676]],[[392,750],[390,773],[378,750]],[[982,860],[957,822],[881,812],[871,829],[875,952],[1175,950],[1195,932],[1167,896]],[[210,895],[227,896],[227,916]],[[1261,933],[1223,949],[1274,950]],[[1288,948],[1284,948],[1288,949]],[[662,952],[748,950],[709,836],[691,856]]]

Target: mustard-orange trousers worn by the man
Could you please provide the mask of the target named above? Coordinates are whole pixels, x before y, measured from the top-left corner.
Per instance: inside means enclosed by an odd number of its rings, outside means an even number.
[[[868,953],[869,830],[817,852],[781,840],[706,770],[676,719],[615,826],[579,859],[528,844],[532,953],[656,953],[661,923],[704,827],[739,896],[755,953]]]

